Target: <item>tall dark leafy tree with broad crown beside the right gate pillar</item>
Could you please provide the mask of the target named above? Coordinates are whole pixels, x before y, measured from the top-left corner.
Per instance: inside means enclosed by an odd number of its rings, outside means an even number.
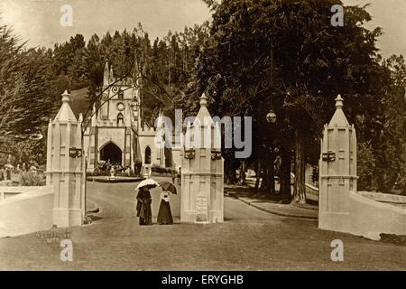
[[[371,16],[358,6],[346,6],[346,25],[333,27],[332,5],[337,1],[224,0],[215,5],[210,41],[199,57],[198,79],[211,88],[216,102],[211,108],[220,116],[253,116],[258,122],[264,117],[255,106],[260,102],[273,108],[281,123],[289,124],[288,130],[279,126],[271,138],[282,152],[291,147],[281,135],[295,144],[298,202],[306,201],[304,166],[309,155],[318,155],[311,150],[318,151],[318,134],[334,112],[337,94],[346,99],[347,115],[354,122],[365,109],[374,114],[376,109],[368,103],[380,99],[384,88],[375,47],[381,30],[364,28]],[[275,82],[263,93],[245,93],[252,85],[266,85],[262,81],[271,72],[283,81],[281,89]],[[271,148],[272,142],[263,145]]]

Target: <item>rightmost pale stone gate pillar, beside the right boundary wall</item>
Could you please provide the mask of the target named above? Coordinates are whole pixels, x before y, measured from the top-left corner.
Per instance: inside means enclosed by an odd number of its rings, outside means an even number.
[[[336,98],[336,112],[324,126],[319,160],[318,228],[346,231],[349,192],[356,191],[356,135]]]

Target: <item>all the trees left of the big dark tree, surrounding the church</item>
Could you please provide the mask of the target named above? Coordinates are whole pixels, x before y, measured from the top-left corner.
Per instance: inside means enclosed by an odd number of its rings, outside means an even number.
[[[5,25],[0,36],[0,151],[17,155],[17,163],[44,164],[38,156],[45,150],[44,140],[32,141],[29,136],[46,134],[65,89],[87,88],[88,106],[97,102],[106,61],[113,66],[115,78],[142,76],[148,80],[145,86],[160,88],[159,94],[143,94],[143,118],[150,125],[159,111],[173,115],[174,107],[196,106],[189,101],[196,92],[190,75],[198,47],[208,37],[208,23],[169,32],[153,42],[140,23],[131,33],[94,34],[88,42],[76,34],[52,49],[26,48]],[[20,151],[21,145],[32,150]]]

